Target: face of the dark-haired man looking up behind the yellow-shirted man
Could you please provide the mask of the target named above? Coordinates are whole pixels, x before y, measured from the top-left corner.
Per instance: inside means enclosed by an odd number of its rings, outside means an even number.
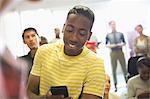
[[[38,36],[34,31],[26,31],[24,33],[24,43],[30,49],[38,48]]]

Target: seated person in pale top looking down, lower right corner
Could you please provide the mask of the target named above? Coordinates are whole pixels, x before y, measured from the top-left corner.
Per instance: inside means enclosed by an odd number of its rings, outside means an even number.
[[[128,99],[150,98],[150,59],[140,57],[137,61],[139,75],[128,81]]]

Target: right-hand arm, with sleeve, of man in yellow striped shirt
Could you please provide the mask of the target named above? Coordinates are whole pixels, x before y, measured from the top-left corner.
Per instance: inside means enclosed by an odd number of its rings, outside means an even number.
[[[103,60],[97,58],[88,66],[81,99],[102,99],[104,96],[105,69]]]

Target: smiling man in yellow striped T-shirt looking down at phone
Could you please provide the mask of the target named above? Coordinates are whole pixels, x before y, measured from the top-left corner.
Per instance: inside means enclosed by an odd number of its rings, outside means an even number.
[[[35,55],[27,89],[29,99],[64,99],[51,95],[52,86],[67,86],[73,99],[103,97],[103,61],[84,46],[93,22],[94,13],[88,7],[75,6],[69,11],[63,27],[64,43],[41,46]]]

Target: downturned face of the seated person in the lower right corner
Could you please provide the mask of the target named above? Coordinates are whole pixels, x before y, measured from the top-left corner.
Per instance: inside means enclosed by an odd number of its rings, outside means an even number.
[[[150,69],[146,67],[144,64],[141,65],[142,66],[139,68],[140,78],[144,81],[147,81],[150,79]]]

